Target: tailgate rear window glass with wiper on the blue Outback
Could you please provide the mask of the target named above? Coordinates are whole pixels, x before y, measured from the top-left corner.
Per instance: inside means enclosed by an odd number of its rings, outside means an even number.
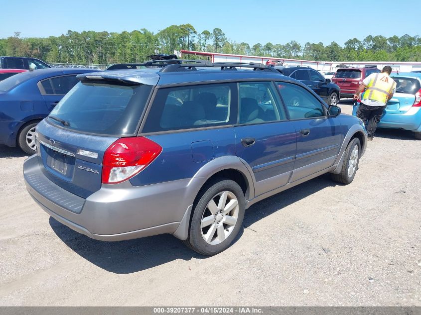
[[[103,134],[136,133],[151,86],[80,82],[54,107],[48,118],[66,129]]]

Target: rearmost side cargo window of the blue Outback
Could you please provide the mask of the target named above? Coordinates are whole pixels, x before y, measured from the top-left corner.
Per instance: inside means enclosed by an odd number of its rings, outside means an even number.
[[[159,89],[143,132],[234,124],[235,84],[207,84]]]

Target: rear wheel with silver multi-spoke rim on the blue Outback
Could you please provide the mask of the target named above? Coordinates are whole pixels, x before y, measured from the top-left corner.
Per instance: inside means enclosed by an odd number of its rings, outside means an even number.
[[[242,227],[244,209],[244,193],[236,182],[224,178],[210,182],[193,204],[188,236],[183,243],[207,256],[224,251]]]

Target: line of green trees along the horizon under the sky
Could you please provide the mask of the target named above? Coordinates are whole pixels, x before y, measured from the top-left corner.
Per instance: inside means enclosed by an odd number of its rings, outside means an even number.
[[[363,40],[349,39],[343,46],[336,42],[327,46],[321,42],[301,45],[294,40],[286,44],[250,45],[227,39],[220,28],[198,32],[191,24],[171,25],[156,34],[142,28],[121,33],[69,30],[48,38],[22,38],[19,32],[14,32],[14,36],[0,38],[0,56],[34,57],[49,63],[139,63],[155,51],[171,54],[174,50],[315,61],[421,61],[421,38],[409,34],[369,35]]]

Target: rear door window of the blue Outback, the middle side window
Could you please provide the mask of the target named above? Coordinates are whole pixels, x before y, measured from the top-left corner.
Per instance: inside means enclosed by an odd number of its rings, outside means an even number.
[[[239,83],[239,95],[240,124],[286,119],[272,82]]]

